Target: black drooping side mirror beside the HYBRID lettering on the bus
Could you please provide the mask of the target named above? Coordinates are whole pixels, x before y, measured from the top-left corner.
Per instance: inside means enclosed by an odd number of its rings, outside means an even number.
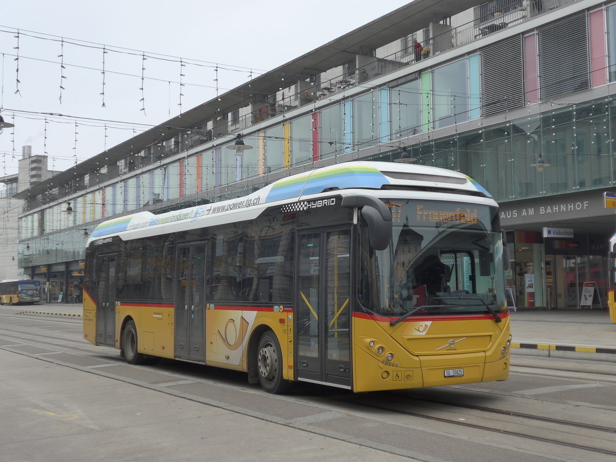
[[[373,249],[385,250],[389,246],[393,223],[391,212],[382,201],[371,196],[347,196],[342,198],[342,207],[357,207],[362,210]]]

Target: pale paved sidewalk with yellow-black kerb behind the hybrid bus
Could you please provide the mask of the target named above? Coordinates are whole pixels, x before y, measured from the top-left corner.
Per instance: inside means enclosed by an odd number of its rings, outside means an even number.
[[[19,308],[19,307],[14,307]],[[19,312],[81,317],[79,303],[42,303]],[[511,316],[513,354],[616,362],[616,324],[607,309],[523,310]]]

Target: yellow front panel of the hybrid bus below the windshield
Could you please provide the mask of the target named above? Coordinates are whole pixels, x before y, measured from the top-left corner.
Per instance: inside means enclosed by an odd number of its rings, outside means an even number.
[[[389,320],[354,317],[354,391],[505,380],[509,349],[503,355],[501,348],[509,336],[509,317],[498,324],[477,318],[418,318],[390,326]],[[463,369],[463,375],[446,377],[444,371],[451,369]]]

